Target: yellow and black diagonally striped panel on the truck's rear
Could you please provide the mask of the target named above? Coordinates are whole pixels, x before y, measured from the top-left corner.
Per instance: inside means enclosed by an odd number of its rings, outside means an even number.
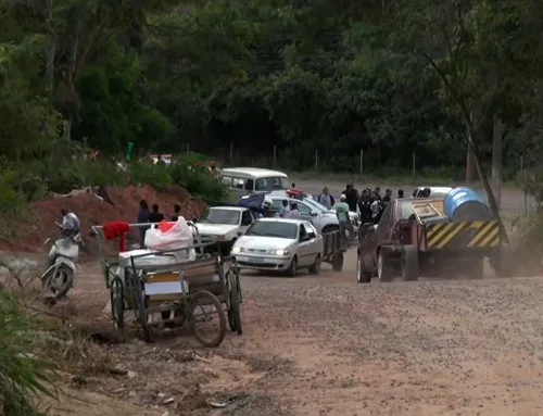
[[[500,245],[497,220],[431,224],[426,227],[427,249],[470,249]]]

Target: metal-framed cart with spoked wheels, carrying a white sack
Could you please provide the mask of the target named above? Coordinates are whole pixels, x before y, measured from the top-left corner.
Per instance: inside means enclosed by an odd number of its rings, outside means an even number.
[[[190,327],[202,345],[216,346],[226,332],[226,311],[230,329],[242,333],[241,287],[235,263],[218,255],[200,254],[202,244],[160,252],[136,250],[109,261],[102,248],[103,227],[92,228],[99,239],[105,285],[110,289],[112,319],[119,330],[125,326],[125,312],[131,310],[149,342],[156,327],[180,325]],[[197,254],[187,260],[191,250]],[[153,320],[157,314],[162,318]],[[218,329],[206,338],[202,328],[213,317],[218,319]]]

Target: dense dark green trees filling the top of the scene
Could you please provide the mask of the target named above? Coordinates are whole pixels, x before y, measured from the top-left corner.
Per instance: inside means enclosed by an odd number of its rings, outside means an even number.
[[[0,152],[189,147],[329,169],[505,163],[540,141],[543,9],[526,0],[0,0]],[[533,152],[531,153],[533,156]],[[534,159],[538,160],[538,157]]]

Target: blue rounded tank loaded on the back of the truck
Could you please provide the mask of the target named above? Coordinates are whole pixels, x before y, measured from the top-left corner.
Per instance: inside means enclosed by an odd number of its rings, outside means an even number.
[[[455,188],[443,201],[445,214],[452,220],[489,220],[492,219],[489,207],[479,194],[470,188]]]

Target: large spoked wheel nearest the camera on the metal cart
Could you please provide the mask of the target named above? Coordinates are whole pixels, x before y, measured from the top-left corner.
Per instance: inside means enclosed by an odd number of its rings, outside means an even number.
[[[226,335],[226,314],[217,297],[207,290],[190,294],[190,329],[203,346],[218,346]],[[216,320],[214,317],[218,319]]]

